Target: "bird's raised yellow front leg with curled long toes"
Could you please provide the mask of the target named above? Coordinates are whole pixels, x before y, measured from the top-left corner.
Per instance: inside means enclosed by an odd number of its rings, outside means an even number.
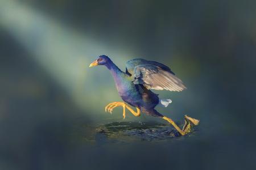
[[[137,108],[137,112],[135,112],[129,105],[123,102],[114,102],[106,105],[105,112],[108,110],[109,113],[112,113],[113,109],[118,106],[123,107],[123,118],[125,118],[125,108],[127,108],[134,116],[141,116],[141,110],[139,108]]]

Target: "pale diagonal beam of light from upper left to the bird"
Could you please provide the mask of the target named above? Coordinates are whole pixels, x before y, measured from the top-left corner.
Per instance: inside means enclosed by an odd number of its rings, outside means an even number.
[[[96,84],[108,84],[112,79],[108,80],[110,75],[106,75],[108,79],[103,76],[97,79],[95,72],[98,68],[89,70],[90,62],[101,54],[107,54],[118,57],[114,59],[115,62],[124,65],[126,57],[133,56],[114,48],[110,49],[109,46],[90,39],[88,33],[86,35],[77,32],[16,1],[0,1],[0,26],[9,31],[84,110],[88,109],[88,106],[97,110],[98,105],[106,104],[104,100],[117,95],[114,88],[96,91]],[[98,105],[93,104],[96,101]]]

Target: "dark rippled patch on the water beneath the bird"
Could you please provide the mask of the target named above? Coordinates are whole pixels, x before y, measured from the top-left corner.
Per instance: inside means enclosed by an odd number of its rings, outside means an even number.
[[[157,122],[111,122],[98,126],[96,131],[96,141],[109,142],[159,141],[180,137],[172,126]],[[195,133],[196,129],[191,134]]]

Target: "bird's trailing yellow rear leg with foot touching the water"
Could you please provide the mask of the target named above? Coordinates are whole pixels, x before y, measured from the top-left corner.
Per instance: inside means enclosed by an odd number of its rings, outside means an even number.
[[[172,126],[174,126],[174,128],[179,131],[179,133],[181,135],[185,135],[189,132],[191,132],[191,128],[193,125],[198,125],[199,124],[199,120],[195,119],[195,118],[191,118],[191,117],[188,117],[187,115],[185,115],[185,124],[183,126],[183,129],[181,130],[179,128],[179,126],[177,126],[175,124],[175,122],[173,120],[171,120],[171,118],[168,118],[166,116],[162,117],[164,120],[167,120],[170,124],[172,124]]]

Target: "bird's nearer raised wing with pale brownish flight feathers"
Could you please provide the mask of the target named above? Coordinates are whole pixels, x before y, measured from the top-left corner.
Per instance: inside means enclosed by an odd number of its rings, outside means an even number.
[[[134,67],[132,76],[134,84],[143,84],[148,89],[183,91],[186,88],[170,69],[157,65],[137,65]]]

